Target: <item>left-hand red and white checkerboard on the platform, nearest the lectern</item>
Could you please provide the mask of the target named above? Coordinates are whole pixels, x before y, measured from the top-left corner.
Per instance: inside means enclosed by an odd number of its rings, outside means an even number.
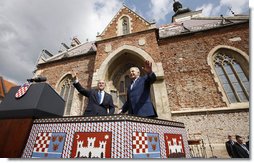
[[[34,152],[48,152],[51,135],[52,133],[39,133],[35,141]]]

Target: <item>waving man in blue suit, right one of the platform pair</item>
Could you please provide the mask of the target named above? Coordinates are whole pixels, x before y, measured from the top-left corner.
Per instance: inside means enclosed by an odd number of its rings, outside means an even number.
[[[156,75],[152,71],[152,63],[145,61],[143,67],[147,73],[140,77],[140,70],[138,67],[131,67],[129,77],[132,84],[127,91],[127,101],[124,103],[120,113],[137,115],[142,117],[157,117],[157,113],[150,97],[150,87],[156,81]]]

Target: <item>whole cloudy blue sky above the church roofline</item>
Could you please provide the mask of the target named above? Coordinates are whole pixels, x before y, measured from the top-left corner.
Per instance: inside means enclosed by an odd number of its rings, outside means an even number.
[[[203,9],[204,16],[249,12],[248,0],[181,0],[183,7]],[[61,43],[95,41],[125,3],[157,27],[171,22],[173,0],[1,0],[0,76],[22,84],[33,76],[43,49],[52,54]]]

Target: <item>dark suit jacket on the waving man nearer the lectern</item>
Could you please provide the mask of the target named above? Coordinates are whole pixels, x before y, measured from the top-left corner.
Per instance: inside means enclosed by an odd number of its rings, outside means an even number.
[[[112,96],[105,92],[102,103],[98,100],[98,90],[87,90],[80,83],[74,83],[74,87],[84,96],[88,97],[88,104],[84,115],[112,115],[115,112]],[[109,109],[109,113],[107,113]]]

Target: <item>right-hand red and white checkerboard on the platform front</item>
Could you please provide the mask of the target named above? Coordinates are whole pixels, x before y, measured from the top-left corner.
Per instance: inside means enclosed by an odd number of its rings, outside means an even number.
[[[133,154],[148,153],[147,133],[133,132]]]

